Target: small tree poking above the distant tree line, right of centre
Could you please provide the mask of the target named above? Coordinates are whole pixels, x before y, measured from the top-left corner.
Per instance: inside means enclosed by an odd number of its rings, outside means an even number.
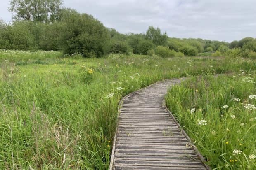
[[[149,26],[146,33],[146,39],[152,40],[155,45],[166,46],[168,36],[167,33],[161,34],[160,28],[154,28],[153,26]]]

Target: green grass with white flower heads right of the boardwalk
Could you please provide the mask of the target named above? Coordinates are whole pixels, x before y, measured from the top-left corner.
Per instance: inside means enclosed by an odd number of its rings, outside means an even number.
[[[256,159],[249,157],[256,156],[256,109],[244,107],[256,105],[256,98],[249,98],[256,95],[256,71],[243,69],[234,75],[187,79],[166,96],[168,108],[211,168],[256,169]],[[207,124],[199,125],[202,120]],[[234,154],[235,149],[242,153]]]

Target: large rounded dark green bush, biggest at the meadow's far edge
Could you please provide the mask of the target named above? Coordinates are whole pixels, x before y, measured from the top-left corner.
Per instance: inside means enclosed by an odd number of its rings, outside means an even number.
[[[70,9],[66,9],[62,17],[64,27],[60,40],[64,53],[81,53],[84,57],[107,54],[109,34],[100,21]]]

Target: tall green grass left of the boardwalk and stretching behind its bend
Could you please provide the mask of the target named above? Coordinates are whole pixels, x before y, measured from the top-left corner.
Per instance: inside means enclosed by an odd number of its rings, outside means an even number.
[[[3,50],[0,58],[0,169],[107,170],[124,95],[162,79],[256,70],[241,58]]]

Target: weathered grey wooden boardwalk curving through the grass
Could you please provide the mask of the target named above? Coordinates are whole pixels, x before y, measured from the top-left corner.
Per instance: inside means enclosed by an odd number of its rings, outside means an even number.
[[[208,170],[205,161],[166,109],[168,79],[130,93],[119,104],[109,170]]]

